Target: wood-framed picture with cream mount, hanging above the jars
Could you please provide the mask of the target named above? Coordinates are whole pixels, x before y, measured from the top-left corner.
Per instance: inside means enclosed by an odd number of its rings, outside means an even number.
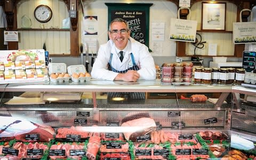
[[[202,30],[225,30],[226,3],[202,2]]]

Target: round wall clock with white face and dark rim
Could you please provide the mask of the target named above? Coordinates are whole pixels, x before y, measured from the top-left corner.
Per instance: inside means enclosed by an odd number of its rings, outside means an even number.
[[[34,12],[37,21],[45,23],[51,20],[52,10],[47,5],[38,5]]]

